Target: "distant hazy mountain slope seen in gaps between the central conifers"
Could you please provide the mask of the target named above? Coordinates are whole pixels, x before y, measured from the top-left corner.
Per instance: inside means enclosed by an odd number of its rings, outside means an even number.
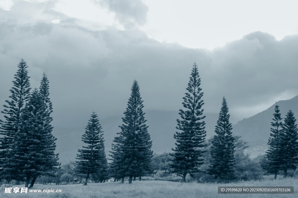
[[[144,110],[148,132],[152,140],[152,150],[155,153],[170,152],[171,148],[175,147],[174,133],[177,131],[177,118],[180,118],[179,111],[159,111],[159,110]],[[218,119],[217,114],[205,114],[207,138],[214,135],[214,126]],[[119,125],[122,125],[123,115],[109,116],[100,120],[103,127],[103,137],[105,144],[105,153],[107,158],[111,150],[111,143],[117,132],[120,132]],[[57,138],[56,151],[59,153],[59,161],[67,163],[75,161],[77,149],[82,148],[84,143],[81,137],[85,132],[86,126],[77,127],[75,129],[54,128],[53,135]]]

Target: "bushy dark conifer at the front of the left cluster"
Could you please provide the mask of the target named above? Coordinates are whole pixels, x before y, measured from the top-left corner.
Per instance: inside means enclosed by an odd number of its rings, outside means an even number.
[[[31,178],[53,175],[60,163],[58,154],[54,153],[57,139],[52,135],[52,118],[37,89],[23,112],[11,145],[13,155],[7,161],[12,171],[17,170],[18,179],[26,178],[25,187],[28,187]]]

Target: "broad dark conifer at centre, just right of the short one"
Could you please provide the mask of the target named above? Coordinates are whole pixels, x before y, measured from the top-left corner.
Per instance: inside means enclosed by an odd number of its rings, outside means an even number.
[[[128,99],[127,108],[119,126],[119,145],[114,160],[121,164],[119,173],[129,176],[131,183],[134,176],[142,176],[150,172],[150,162],[153,156],[151,151],[152,141],[148,133],[148,126],[142,108],[142,98],[136,80],[131,88],[131,97]],[[116,161],[115,161],[116,162]]]

